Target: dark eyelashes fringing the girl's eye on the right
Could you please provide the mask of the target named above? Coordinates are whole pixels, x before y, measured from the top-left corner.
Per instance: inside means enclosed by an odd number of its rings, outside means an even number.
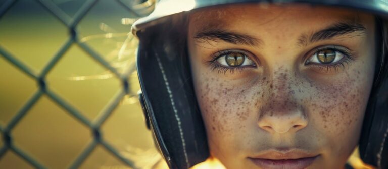
[[[340,61],[332,64],[317,64],[317,63],[307,63],[308,59],[312,57],[314,54],[324,51],[324,50],[333,50],[334,52],[340,52],[344,54],[344,58]],[[305,65],[310,65],[313,67],[318,68],[319,71],[326,70],[326,72],[334,70],[335,72],[338,72],[339,68],[342,68],[345,70],[346,66],[349,66],[351,62],[354,61],[354,58],[351,54],[351,50],[345,48],[345,47],[338,47],[338,46],[326,46],[326,47],[317,47],[312,52],[308,52],[307,59],[305,61]]]

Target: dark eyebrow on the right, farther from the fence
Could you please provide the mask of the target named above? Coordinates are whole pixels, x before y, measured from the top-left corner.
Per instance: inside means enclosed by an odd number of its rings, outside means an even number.
[[[323,30],[312,33],[309,37],[306,34],[302,34],[298,39],[298,45],[307,46],[309,43],[328,40],[336,36],[342,36],[357,32],[358,34],[352,36],[360,36],[365,34],[365,27],[360,23],[340,22],[331,25]]]

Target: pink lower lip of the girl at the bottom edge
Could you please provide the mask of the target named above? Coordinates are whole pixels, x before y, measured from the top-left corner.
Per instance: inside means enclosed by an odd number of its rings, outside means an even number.
[[[299,158],[299,159],[284,159],[284,160],[272,160],[272,159],[262,159],[262,158],[250,158],[253,163],[255,163],[260,168],[268,169],[303,169],[311,165],[315,157],[308,158]]]

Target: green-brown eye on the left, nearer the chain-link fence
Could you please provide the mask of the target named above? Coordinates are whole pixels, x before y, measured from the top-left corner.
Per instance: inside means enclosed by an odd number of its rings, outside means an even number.
[[[226,67],[255,65],[254,62],[249,59],[246,54],[240,52],[229,52],[221,54],[221,56],[216,60],[216,62]]]

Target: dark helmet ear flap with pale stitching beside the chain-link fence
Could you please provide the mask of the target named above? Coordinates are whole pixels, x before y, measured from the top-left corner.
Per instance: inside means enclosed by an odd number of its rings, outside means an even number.
[[[209,149],[188,71],[189,63],[183,59],[185,47],[176,40],[181,36],[168,26],[168,29],[150,27],[137,33],[142,39],[137,54],[137,73],[146,117],[149,117],[160,152],[170,168],[189,168],[205,161]],[[153,33],[160,29],[166,32]]]

